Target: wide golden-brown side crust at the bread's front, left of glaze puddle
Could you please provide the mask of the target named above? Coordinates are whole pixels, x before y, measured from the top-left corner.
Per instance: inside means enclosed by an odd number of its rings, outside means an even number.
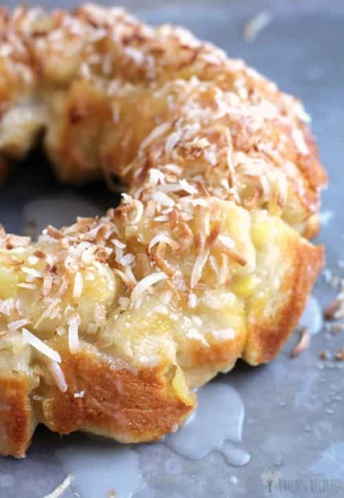
[[[195,396],[182,400],[171,388],[173,366],[132,371],[116,367],[92,351],[71,355],[66,345],[61,352],[68,390],[41,385],[41,421],[61,434],[91,431],[121,442],[160,439],[179,426],[195,408]],[[74,397],[82,393],[83,397]],[[39,403],[39,402],[37,402]]]

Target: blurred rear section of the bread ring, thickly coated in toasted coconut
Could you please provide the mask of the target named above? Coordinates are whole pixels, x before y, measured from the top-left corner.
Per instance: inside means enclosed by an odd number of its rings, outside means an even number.
[[[309,117],[242,61],[182,28],[92,4],[4,10],[0,30],[2,162],[44,130],[63,181],[115,173],[138,186],[148,169],[178,164],[178,177],[202,175],[212,195],[281,210],[316,233],[326,175]]]

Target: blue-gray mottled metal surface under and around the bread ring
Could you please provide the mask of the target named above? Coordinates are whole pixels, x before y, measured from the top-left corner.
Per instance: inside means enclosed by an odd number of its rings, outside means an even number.
[[[64,0],[59,7],[68,3]],[[279,87],[303,99],[330,172],[323,210],[333,211],[334,219],[322,228],[319,241],[327,248],[327,266],[343,275],[337,261],[344,259],[344,3],[207,3],[173,6],[158,1],[131,1],[127,5],[151,23],[186,25],[197,36],[223,47],[230,56],[244,58],[276,80]],[[45,5],[50,6],[50,2]],[[272,21],[255,43],[246,43],[241,34],[244,23],[263,7],[272,12]],[[21,208],[28,200],[42,193],[47,196],[66,191],[79,193],[101,206],[116,201],[114,195],[105,194],[103,184],[83,189],[58,185],[43,159],[33,155],[17,167],[10,182],[0,190],[1,222],[8,230],[18,232],[23,228]],[[314,294],[322,305],[334,297],[323,277]],[[335,393],[343,393],[343,362],[325,362],[325,368],[321,368],[319,360],[323,349],[336,351],[344,346],[344,332],[329,336],[321,331],[312,338],[310,349],[292,360],[288,352],[296,340],[293,336],[270,365],[252,369],[240,364],[228,374],[246,407],[244,443],[252,455],[248,466],[230,467],[217,453],[193,462],[178,457],[162,444],[140,446],[146,486],[136,496],[344,497],[344,401],[334,400]],[[327,413],[329,409],[333,413]],[[58,439],[39,429],[27,459],[1,459],[0,496],[41,498],[51,492],[65,477],[54,456]],[[279,472],[282,479],[282,485],[273,486],[272,493],[261,479],[268,470]],[[233,475],[237,477],[236,484],[230,481]],[[90,479],[96,479],[96,469]],[[68,490],[64,496],[72,497],[72,492]]]

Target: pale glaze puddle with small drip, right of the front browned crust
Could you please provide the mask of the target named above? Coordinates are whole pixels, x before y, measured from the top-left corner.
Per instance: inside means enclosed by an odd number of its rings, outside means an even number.
[[[164,444],[175,453],[200,460],[219,451],[230,465],[243,466],[250,455],[240,448],[244,404],[237,391],[224,382],[211,382],[197,392],[198,408],[177,432],[166,435]]]

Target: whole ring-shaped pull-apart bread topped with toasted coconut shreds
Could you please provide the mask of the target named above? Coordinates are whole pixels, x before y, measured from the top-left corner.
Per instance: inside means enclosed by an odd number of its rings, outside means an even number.
[[[36,242],[1,231],[0,453],[23,457],[38,423],[156,440],[195,387],[272,360],[297,325],[323,264],[308,116],[118,8],[1,10],[0,33],[1,175],[40,136],[63,182],[128,186]]]

